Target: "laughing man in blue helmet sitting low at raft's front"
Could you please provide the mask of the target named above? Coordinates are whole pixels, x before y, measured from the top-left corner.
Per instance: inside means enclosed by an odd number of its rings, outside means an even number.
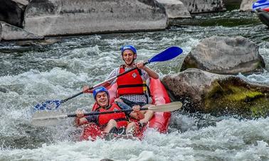
[[[93,97],[98,105],[95,111],[105,112],[105,111],[119,111],[122,109],[130,109],[130,106],[125,104],[113,103],[110,104],[109,92],[105,87],[97,87],[93,90]],[[120,104],[122,106],[120,106]],[[144,118],[144,114],[139,111],[139,106],[132,107],[134,113],[108,113],[95,116],[85,116],[83,111],[76,111],[77,117],[75,118],[75,125],[81,126],[86,123],[96,123],[102,128],[105,133],[124,133],[125,128],[129,132],[132,128],[136,128],[135,123],[129,123],[127,116],[131,116],[136,119]]]

